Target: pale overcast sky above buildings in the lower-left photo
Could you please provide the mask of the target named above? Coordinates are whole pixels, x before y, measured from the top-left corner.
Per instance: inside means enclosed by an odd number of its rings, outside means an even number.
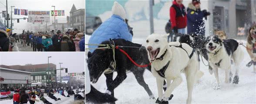
[[[84,52],[0,52],[0,65],[45,64],[48,62],[56,68],[68,68],[68,73],[84,71]]]

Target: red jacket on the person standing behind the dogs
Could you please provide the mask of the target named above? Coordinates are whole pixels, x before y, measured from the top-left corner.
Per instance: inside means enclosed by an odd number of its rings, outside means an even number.
[[[170,7],[170,20],[172,23],[172,29],[173,27],[177,27],[178,29],[182,29],[185,28],[187,26],[187,14],[185,13],[184,16],[177,16],[176,17],[176,10],[173,7],[173,5],[175,5],[176,7],[178,7],[179,9],[182,8],[182,11],[185,12],[185,7],[183,4],[179,5],[176,0],[174,0],[172,2],[172,7]]]

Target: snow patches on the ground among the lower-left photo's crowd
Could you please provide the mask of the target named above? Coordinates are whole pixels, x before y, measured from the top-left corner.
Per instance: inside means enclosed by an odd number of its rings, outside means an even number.
[[[79,91],[84,91],[84,90],[79,90]],[[67,96],[67,91],[65,91],[64,94]],[[81,94],[81,96],[84,97],[84,94],[82,92],[78,94]],[[44,98],[47,99],[47,101],[51,102],[52,104],[73,104],[74,102],[74,95],[70,97],[64,97],[61,94],[54,94],[54,96],[57,98],[61,98],[61,101],[54,101],[53,99],[51,99],[51,97],[48,97],[46,94],[44,95]],[[43,101],[40,101],[39,97],[36,96],[36,99],[39,100],[39,102],[36,101],[35,104],[44,104]],[[0,104],[13,104],[13,99],[0,101]],[[27,102],[27,104],[30,104],[29,101]]]

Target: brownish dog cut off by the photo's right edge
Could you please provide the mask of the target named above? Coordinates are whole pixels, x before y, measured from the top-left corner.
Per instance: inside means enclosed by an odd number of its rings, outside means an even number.
[[[248,33],[249,34],[247,36],[246,49],[247,49],[248,54],[252,58],[251,62],[253,64],[253,71],[256,73],[256,68],[255,68],[255,65],[256,65],[256,24],[251,26]]]

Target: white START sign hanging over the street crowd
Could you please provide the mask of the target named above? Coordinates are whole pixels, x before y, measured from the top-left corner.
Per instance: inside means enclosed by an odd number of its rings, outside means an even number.
[[[50,16],[28,16],[29,23],[49,23]]]

